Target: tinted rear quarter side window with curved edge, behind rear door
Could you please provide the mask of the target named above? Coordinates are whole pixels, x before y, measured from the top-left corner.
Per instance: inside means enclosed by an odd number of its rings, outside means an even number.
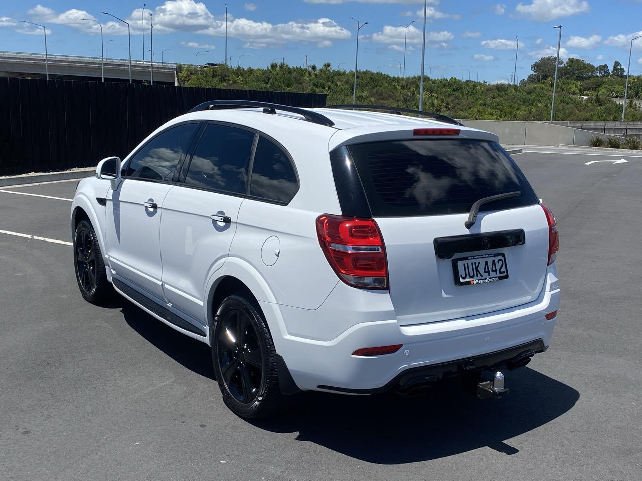
[[[289,203],[299,190],[288,155],[274,142],[259,138],[252,165],[250,196]]]

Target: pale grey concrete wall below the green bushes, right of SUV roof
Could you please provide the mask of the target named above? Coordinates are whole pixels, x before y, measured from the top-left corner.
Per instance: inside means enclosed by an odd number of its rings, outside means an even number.
[[[462,120],[465,126],[496,134],[501,144],[517,146],[587,146],[594,135],[607,139],[611,135],[551,125],[548,122]]]

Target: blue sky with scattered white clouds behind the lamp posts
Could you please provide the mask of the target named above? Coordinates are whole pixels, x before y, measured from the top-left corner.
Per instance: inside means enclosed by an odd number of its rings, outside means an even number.
[[[225,57],[225,2],[147,0],[144,35],[150,48],[149,14],[153,13],[156,60],[221,62]],[[403,62],[404,28],[408,27],[406,75],[418,74],[421,64],[423,0],[228,0],[230,63],[265,67],[274,58],[302,65],[354,66],[356,22],[369,21],[360,31],[359,68],[399,73]],[[0,3],[0,45],[11,51],[44,51],[42,29],[23,24],[29,20],[48,29],[49,53],[100,56],[98,24],[103,23],[107,53],[127,57],[125,24],[132,26],[132,58],[143,57],[141,14],[143,1],[42,0],[42,3]],[[540,56],[554,55],[556,24],[562,24],[562,58],[577,56],[594,64],[614,60],[627,65],[630,38],[642,35],[642,0],[429,0],[426,24],[426,65],[433,76],[506,81],[513,71],[515,37],[519,37],[517,78],[530,72]],[[146,59],[150,53],[146,51]],[[342,63],[346,62],[346,63]],[[642,38],[634,48],[631,72],[642,73]],[[426,67],[426,74],[429,68]]]

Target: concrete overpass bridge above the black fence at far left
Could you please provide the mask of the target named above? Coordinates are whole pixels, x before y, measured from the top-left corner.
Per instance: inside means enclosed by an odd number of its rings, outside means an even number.
[[[101,79],[100,57],[48,55],[49,79]],[[178,85],[176,63],[154,62],[154,83]],[[45,56],[42,53],[0,51],[0,76],[45,78]],[[132,81],[152,80],[152,62],[132,59]],[[129,60],[105,58],[105,81],[129,81]]]

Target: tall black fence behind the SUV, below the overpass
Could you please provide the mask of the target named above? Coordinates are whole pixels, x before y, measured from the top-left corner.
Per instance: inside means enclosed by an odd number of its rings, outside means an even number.
[[[0,78],[0,176],[123,158],[164,122],[216,99],[325,105],[324,94]]]

